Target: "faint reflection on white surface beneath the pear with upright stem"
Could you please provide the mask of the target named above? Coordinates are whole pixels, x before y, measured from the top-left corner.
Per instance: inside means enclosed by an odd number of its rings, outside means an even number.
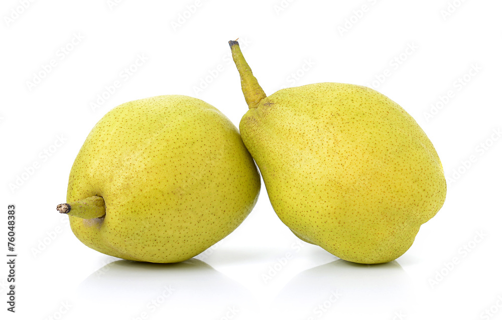
[[[407,314],[410,319],[413,300],[412,279],[398,262],[358,264],[339,259],[300,272],[279,292],[272,309],[283,318],[392,319]]]

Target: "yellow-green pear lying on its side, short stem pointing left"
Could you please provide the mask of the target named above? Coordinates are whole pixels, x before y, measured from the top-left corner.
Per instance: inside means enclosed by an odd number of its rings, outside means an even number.
[[[65,209],[92,249],[178,262],[232,232],[259,191],[230,120],[202,100],[167,95],[119,105],[96,124],[71,169]]]

